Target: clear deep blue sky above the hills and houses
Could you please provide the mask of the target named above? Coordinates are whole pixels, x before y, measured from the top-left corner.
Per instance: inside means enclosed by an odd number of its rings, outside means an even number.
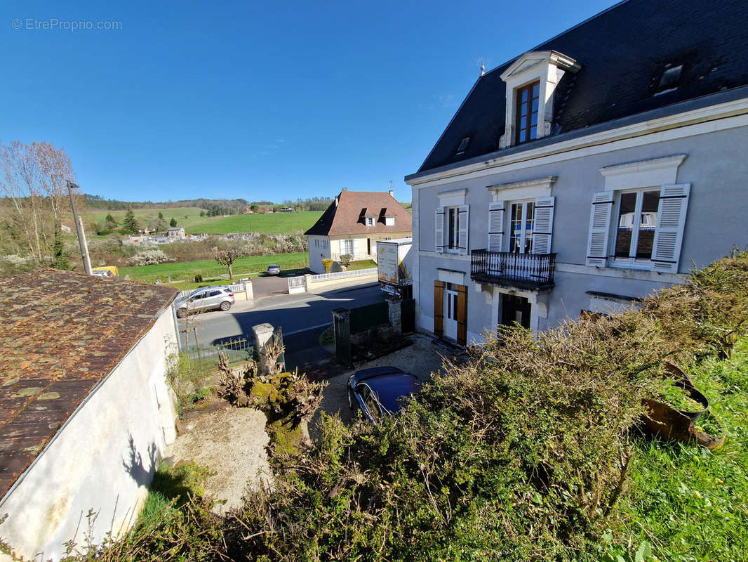
[[[85,192],[112,199],[392,181],[409,201],[403,176],[482,58],[490,70],[613,3],[5,0],[0,141],[64,147]]]

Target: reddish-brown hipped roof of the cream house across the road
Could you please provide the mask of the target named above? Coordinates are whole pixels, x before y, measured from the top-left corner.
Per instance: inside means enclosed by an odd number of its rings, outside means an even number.
[[[382,214],[384,210],[384,214]],[[395,217],[393,226],[384,217]],[[376,217],[374,226],[366,226],[363,217]],[[411,232],[411,214],[386,191],[343,190],[305,235],[373,235],[387,232]]]

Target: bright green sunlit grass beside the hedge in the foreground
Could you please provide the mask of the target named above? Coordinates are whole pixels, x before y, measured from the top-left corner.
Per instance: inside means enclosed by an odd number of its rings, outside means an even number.
[[[632,545],[649,543],[663,562],[745,561],[748,337],[738,341],[731,359],[708,360],[690,373],[718,420],[699,422],[725,435],[726,443],[713,453],[661,441],[641,443],[631,463],[631,493],[621,505],[625,538]]]

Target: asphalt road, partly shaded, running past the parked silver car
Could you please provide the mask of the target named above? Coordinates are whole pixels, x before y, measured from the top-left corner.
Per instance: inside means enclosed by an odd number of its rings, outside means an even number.
[[[194,345],[192,328],[197,328],[200,345],[220,343],[252,333],[252,326],[265,322],[283,329],[286,351],[317,345],[317,338],[332,324],[332,310],[355,308],[384,300],[378,285],[340,288],[325,294],[281,294],[254,302],[236,303],[227,312],[203,312],[180,319],[180,330],[188,326],[189,344]],[[181,335],[184,337],[184,334]]]

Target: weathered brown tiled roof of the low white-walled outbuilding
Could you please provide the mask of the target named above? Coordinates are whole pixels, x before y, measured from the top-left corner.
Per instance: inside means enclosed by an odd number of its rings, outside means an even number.
[[[53,269],[0,279],[0,496],[176,294]]]

